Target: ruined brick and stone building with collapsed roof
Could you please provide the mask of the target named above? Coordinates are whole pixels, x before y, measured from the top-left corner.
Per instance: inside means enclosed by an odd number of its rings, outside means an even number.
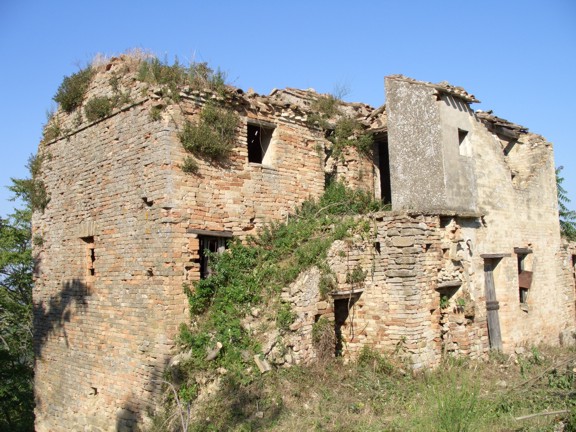
[[[385,106],[339,102],[335,115],[358,121],[374,144],[369,155],[350,147],[335,158],[330,131],[309,121],[321,97],[313,90],[182,87],[174,102],[127,62],[102,65],[84,98],[124,92],[124,103],[92,120],[78,115],[82,107],[59,110],[59,133],[40,147],[50,201],[33,223],[42,239],[38,431],[133,427],[159,392],[188,319],[182,285],[206,273],[204,251],[285,219],[323,193],[327,176],[392,210],[370,216],[369,238],[332,246],[338,287],[328,300],[315,269],[286,287],[297,318],[289,355],[275,359],[272,349],[272,363],[314,358],[321,316],[334,320],[342,355],[370,345],[401,352],[414,368],[444,353],[481,358],[490,348],[570,341],[576,248],[560,237],[543,137],[474,112],[478,101],[461,88],[390,76]],[[234,150],[225,163],[195,158],[189,174],[182,125],[210,101],[240,119]],[[346,282],[357,266],[366,279]]]

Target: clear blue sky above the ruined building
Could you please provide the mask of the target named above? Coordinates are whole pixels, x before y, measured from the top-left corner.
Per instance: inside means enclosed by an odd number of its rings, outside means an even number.
[[[0,0],[0,215],[62,78],[135,47],[206,61],[265,94],[344,86],[346,100],[379,106],[389,74],[463,86],[482,101],[473,108],[554,144],[576,208],[574,0]]]

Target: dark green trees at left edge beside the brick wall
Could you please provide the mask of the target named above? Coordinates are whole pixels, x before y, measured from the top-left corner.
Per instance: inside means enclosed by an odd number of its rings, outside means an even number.
[[[30,167],[30,166],[29,166]],[[34,430],[32,202],[28,180],[10,190],[25,207],[0,218],[0,430]]]

